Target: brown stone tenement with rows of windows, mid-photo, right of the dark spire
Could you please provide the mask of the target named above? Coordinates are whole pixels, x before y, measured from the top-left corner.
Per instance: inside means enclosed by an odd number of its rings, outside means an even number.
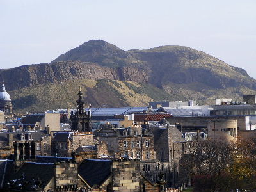
[[[122,129],[105,125],[95,131],[95,136],[99,142],[107,143],[108,153],[111,156],[141,160],[156,158],[154,136],[140,125],[132,124],[131,127]]]

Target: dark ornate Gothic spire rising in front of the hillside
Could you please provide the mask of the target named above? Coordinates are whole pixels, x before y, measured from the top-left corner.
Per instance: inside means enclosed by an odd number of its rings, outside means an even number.
[[[77,109],[75,113],[71,111],[70,120],[72,122],[71,129],[72,131],[78,131],[78,132],[90,132],[92,131],[90,128],[90,118],[91,118],[91,110],[89,109],[88,113],[84,110],[83,107],[83,100],[82,100],[82,92],[81,87],[78,92],[78,100],[77,103]]]

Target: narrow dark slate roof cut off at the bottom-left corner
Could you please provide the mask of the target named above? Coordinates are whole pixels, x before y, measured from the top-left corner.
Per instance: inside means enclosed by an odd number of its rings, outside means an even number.
[[[6,182],[10,180],[10,177],[13,173],[13,161],[8,159],[0,159],[0,189],[3,188]]]

